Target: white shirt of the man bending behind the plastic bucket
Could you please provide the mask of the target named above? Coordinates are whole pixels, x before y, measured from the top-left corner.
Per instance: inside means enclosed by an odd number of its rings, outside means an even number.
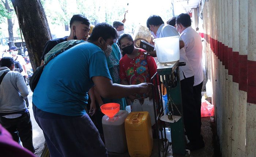
[[[179,35],[178,31],[175,27],[170,25],[164,25],[161,24],[161,26],[157,30],[157,37],[163,38],[163,37],[173,37]],[[180,38],[182,41],[182,39]],[[193,69],[191,65],[189,64],[188,58],[186,56],[184,48],[180,49],[180,62],[186,62],[185,66],[180,66],[180,80],[184,79],[184,76],[186,78],[194,76]]]

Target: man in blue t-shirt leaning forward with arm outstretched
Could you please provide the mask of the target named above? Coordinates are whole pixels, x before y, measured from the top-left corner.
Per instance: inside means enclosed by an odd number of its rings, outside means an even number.
[[[45,66],[34,90],[33,111],[50,156],[108,156],[98,130],[84,110],[91,87],[102,97],[112,99],[150,93],[148,83],[112,83],[106,54],[112,51],[116,38],[112,26],[100,23],[88,42],[64,51]]]

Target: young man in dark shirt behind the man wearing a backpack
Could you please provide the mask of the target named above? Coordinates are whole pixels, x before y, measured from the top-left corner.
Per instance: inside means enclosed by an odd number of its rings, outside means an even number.
[[[45,44],[45,48],[41,57],[41,65],[44,65],[45,54],[47,54],[54,46],[61,42],[73,39],[86,41],[89,30],[89,20],[83,15],[74,15],[70,20],[70,35],[68,37],[50,40]]]

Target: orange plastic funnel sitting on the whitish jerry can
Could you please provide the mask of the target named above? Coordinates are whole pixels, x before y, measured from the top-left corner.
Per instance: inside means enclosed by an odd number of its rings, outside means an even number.
[[[101,112],[107,115],[109,118],[113,118],[119,110],[120,104],[118,103],[107,103],[101,106]]]

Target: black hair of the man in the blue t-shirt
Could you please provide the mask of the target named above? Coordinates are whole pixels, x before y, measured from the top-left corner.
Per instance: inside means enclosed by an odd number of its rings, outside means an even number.
[[[117,39],[116,29],[108,23],[99,23],[93,28],[88,40],[97,41],[99,37],[102,37],[105,41],[109,38]]]

